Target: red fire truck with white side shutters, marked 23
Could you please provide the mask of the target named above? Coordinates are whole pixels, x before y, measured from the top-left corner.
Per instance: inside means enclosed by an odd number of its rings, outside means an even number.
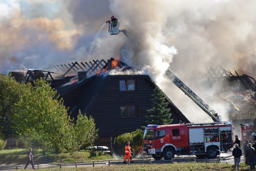
[[[217,150],[232,147],[232,125],[224,123],[148,125],[143,136],[143,153],[155,160],[170,160],[175,154],[214,159]]]

